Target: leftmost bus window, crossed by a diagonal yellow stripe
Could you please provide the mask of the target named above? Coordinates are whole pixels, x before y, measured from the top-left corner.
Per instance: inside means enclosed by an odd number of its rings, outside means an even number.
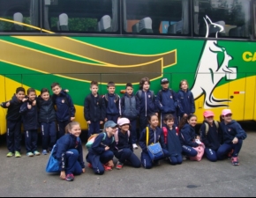
[[[40,1],[37,0],[1,0],[0,32],[39,33]]]

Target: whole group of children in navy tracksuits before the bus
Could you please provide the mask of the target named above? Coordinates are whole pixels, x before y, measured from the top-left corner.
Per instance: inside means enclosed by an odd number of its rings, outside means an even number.
[[[194,99],[187,81],[181,81],[180,91],[177,93],[169,88],[167,78],[162,78],[161,85],[162,90],[154,97],[154,92],[149,89],[150,80],[143,77],[136,94],[133,93],[132,84],[126,84],[125,94],[120,98],[115,93],[116,86],[113,82],[109,82],[107,86],[108,93],[101,96],[98,93],[98,83],[92,81],[91,93],[87,95],[84,103],[84,116],[88,124],[88,136],[99,135],[88,150],[88,167],[93,168],[96,174],[103,174],[104,171],[112,170],[115,156],[118,159],[117,169],[122,169],[125,164],[137,168],[141,165],[147,169],[152,168],[160,163],[159,160],[152,161],[149,157],[147,145],[152,143],[161,144],[162,158],[171,165],[182,164],[184,156],[197,156],[199,146],[205,148],[205,155],[210,161],[226,158],[229,154],[232,164],[239,165],[237,156],[246,134],[237,121],[232,121],[230,109],[222,111],[221,123],[214,121],[213,112],[206,111],[200,135],[196,135],[197,117],[193,114]],[[38,120],[41,124],[43,152],[47,153],[56,143],[52,155],[59,162],[60,177],[74,180],[74,174],[85,172],[79,139],[81,128],[78,122],[73,121],[75,108],[71,97],[59,84],[52,84],[51,88],[53,96],[49,95],[47,89],[42,89],[38,98],[34,89],[27,90],[26,98],[25,90],[18,88],[10,101],[2,103],[1,106],[8,107],[7,156],[11,157],[15,151],[15,156],[20,157],[21,122],[26,135],[26,155],[40,154],[36,145]],[[161,115],[161,121],[158,115]],[[139,146],[142,150],[140,159],[133,153],[133,149],[138,149],[137,120],[140,131]],[[100,133],[103,123],[103,132]],[[65,127],[68,130],[66,135]],[[167,133],[163,133],[164,131]]]

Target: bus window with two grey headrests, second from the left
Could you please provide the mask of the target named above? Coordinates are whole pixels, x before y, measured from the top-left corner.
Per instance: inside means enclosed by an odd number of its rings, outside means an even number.
[[[45,1],[44,26],[54,33],[117,33],[117,0]]]

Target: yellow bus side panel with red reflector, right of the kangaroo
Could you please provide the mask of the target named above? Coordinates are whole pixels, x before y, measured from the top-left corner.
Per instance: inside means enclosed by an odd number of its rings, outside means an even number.
[[[233,118],[237,121],[243,121],[245,117],[245,83],[245,73],[239,73],[239,79],[229,83],[229,108],[234,114]]]

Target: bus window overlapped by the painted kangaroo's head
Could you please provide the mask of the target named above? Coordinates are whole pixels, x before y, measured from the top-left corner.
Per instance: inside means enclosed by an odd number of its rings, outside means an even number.
[[[202,37],[249,38],[251,0],[194,0],[194,33]]]

